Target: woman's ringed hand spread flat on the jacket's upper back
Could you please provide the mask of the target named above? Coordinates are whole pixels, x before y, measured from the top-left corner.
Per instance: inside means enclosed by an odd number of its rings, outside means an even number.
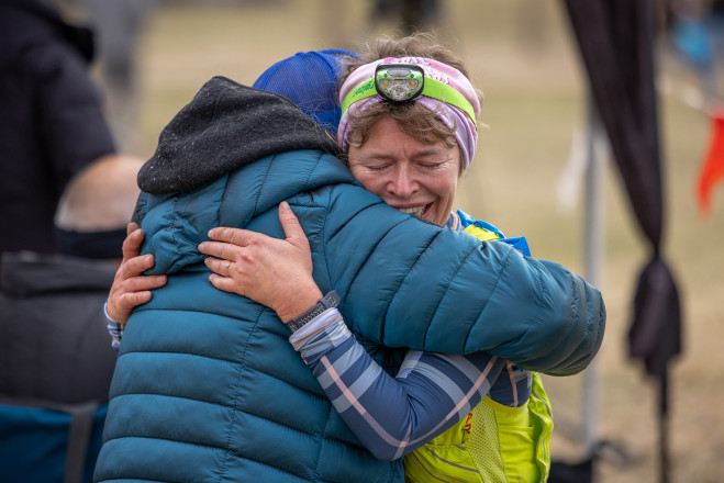
[[[272,308],[283,323],[299,317],[322,299],[312,278],[312,255],[299,220],[287,202],[279,204],[287,239],[240,228],[213,228],[199,251],[214,273],[211,283]],[[215,257],[215,258],[212,258]]]

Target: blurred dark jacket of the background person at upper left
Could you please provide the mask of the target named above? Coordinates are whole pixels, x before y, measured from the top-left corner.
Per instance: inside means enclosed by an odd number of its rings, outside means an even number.
[[[114,151],[87,71],[90,31],[45,3],[0,0],[0,251],[55,252],[68,180]]]

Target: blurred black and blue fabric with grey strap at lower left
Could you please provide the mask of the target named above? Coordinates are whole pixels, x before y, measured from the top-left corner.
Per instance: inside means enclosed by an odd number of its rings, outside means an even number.
[[[116,352],[115,266],[33,252],[0,263],[0,481],[90,483]]]

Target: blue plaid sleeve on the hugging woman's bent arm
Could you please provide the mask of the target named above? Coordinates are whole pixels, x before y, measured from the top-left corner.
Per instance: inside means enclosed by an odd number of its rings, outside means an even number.
[[[336,315],[334,310],[331,316]],[[483,352],[411,351],[392,378],[344,321],[319,332],[298,350],[347,426],[381,460],[401,458],[459,422],[506,363]]]

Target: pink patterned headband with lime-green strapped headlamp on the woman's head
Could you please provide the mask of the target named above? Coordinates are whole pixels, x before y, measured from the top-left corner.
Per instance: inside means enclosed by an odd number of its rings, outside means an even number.
[[[449,128],[463,153],[464,168],[470,166],[478,143],[477,119],[480,100],[459,70],[425,57],[387,57],[357,68],[339,91],[342,120],[337,141],[348,148],[349,112],[363,112],[383,101],[413,100],[437,113]]]

